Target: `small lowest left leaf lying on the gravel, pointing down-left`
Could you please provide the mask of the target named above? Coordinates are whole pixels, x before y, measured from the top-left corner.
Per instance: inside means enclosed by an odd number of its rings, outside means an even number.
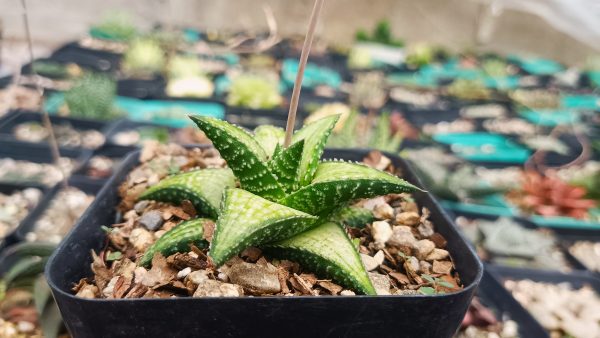
[[[192,244],[199,248],[208,247],[208,242],[203,237],[204,225],[207,222],[212,221],[206,218],[195,218],[179,223],[154,242],[140,258],[138,264],[149,266],[152,258],[158,252],[166,257],[177,252],[189,251]]]

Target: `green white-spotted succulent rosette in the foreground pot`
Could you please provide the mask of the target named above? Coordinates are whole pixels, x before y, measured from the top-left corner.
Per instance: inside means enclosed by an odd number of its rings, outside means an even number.
[[[162,188],[151,189],[153,199],[160,190],[171,189],[171,193],[163,195],[170,202],[189,199],[181,191],[197,195],[210,191],[213,201],[223,195],[210,243],[209,256],[214,265],[223,265],[248,247],[260,247],[267,255],[294,260],[347,288],[375,294],[357,249],[343,226],[332,222],[331,216],[339,215],[339,209],[355,199],[418,188],[365,165],[321,161],[338,116],[320,119],[298,130],[287,148],[282,146],[281,128],[261,126],[252,134],[215,118],[191,119],[227,161],[239,188],[215,177],[202,183],[179,180],[179,192],[173,190],[172,184],[162,182]],[[212,188],[202,188],[209,182]],[[200,192],[201,189],[205,191]],[[214,202],[211,204],[214,206]],[[155,245],[164,245],[159,242]],[[172,245],[178,245],[176,242]]]

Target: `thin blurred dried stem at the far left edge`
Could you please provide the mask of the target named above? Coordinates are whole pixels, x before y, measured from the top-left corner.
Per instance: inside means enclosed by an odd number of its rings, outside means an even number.
[[[50,116],[46,109],[44,109],[43,97],[44,97],[44,88],[40,84],[40,78],[35,72],[35,68],[33,67],[34,56],[33,56],[33,42],[31,39],[31,32],[29,30],[29,17],[27,15],[27,2],[26,0],[21,0],[21,8],[23,9],[23,24],[25,25],[25,36],[27,37],[27,47],[29,49],[29,60],[31,66],[31,73],[34,78],[35,87],[40,95],[40,109],[42,111],[42,123],[44,124],[44,128],[48,131],[48,143],[50,144],[50,152],[52,154],[52,159],[56,164],[56,167],[62,172],[62,167],[60,166],[60,150],[58,149],[58,142],[56,141],[56,136],[54,135],[54,128],[52,128],[52,121],[50,121]],[[67,175],[63,174],[63,185],[67,185]]]

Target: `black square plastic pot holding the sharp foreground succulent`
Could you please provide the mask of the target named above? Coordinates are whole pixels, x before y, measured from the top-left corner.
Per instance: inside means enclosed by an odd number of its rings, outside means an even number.
[[[326,158],[361,160],[365,150],[328,150]],[[475,253],[428,193],[415,194],[448,240],[464,289],[436,296],[242,297],[97,300],[77,298],[74,282],[89,277],[90,250],[104,246],[101,225],[115,221],[118,185],[138,163],[132,153],[51,257],[46,276],[75,337],[450,337],[483,273]],[[420,185],[406,162],[390,155]]]

